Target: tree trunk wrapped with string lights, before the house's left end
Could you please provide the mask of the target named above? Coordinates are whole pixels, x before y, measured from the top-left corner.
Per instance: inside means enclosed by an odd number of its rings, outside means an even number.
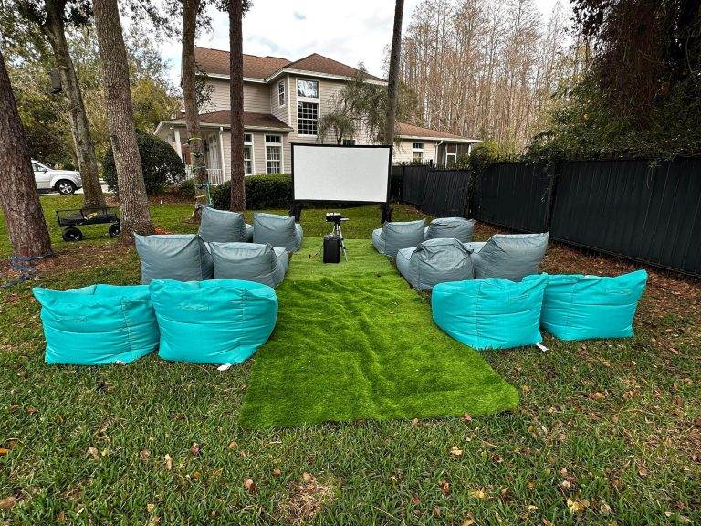
[[[190,165],[194,177],[200,183],[205,183],[207,170],[204,163],[204,142],[200,136],[199,111],[197,109],[197,93],[195,89],[194,37],[197,27],[197,13],[200,0],[183,0],[183,99],[185,106],[185,125],[190,137]]]

